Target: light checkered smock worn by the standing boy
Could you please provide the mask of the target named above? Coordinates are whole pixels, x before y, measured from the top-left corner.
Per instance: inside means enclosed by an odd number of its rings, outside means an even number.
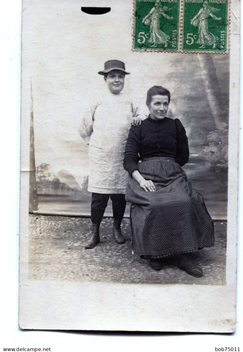
[[[125,193],[124,151],[131,119],[137,115],[138,109],[122,93],[109,92],[90,103],[79,128],[80,136],[89,144],[88,191]]]

